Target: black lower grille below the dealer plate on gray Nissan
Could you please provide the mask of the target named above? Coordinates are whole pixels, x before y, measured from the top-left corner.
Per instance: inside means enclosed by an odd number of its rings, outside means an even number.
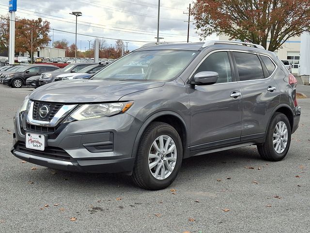
[[[35,156],[48,158],[48,159],[57,159],[62,161],[70,161],[71,156],[63,149],[58,147],[45,147],[43,151],[41,150],[33,150],[26,148],[24,142],[19,141],[16,146],[16,150],[24,153],[30,153]]]

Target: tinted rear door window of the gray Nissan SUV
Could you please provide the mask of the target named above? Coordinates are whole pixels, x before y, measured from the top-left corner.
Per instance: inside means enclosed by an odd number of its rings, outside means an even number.
[[[258,56],[245,52],[233,52],[240,81],[263,79],[263,68]]]

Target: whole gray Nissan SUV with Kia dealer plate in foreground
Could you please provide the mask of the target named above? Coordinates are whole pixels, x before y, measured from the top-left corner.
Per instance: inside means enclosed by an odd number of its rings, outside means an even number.
[[[296,79],[262,46],[148,44],[91,80],[34,90],[14,118],[12,153],[55,169],[125,173],[157,190],[191,156],[257,145],[263,159],[282,160],[300,113]]]

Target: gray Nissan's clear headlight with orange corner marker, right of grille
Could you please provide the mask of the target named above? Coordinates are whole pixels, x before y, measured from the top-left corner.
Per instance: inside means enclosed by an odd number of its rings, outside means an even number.
[[[76,120],[91,119],[101,116],[113,116],[126,112],[134,101],[116,102],[116,103],[100,103],[100,104],[84,104],[71,117]]]

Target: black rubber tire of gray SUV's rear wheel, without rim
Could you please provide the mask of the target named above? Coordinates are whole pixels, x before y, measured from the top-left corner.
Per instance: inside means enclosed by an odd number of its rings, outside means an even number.
[[[281,121],[285,123],[288,135],[287,135],[287,144],[286,144],[285,149],[283,150],[283,152],[278,153],[278,152],[276,152],[276,149],[274,148],[273,134],[275,132],[276,125]],[[280,160],[284,159],[284,157],[286,156],[286,154],[290,148],[290,145],[291,145],[291,125],[290,125],[290,122],[284,114],[277,112],[271,117],[269,127],[268,127],[267,133],[266,133],[265,143],[257,145],[257,150],[258,150],[260,156],[265,160],[280,161]]]

